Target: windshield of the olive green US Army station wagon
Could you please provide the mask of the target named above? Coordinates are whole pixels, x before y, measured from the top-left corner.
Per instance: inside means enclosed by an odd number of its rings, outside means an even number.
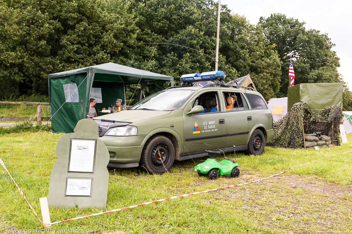
[[[150,95],[132,106],[132,110],[172,111],[177,109],[192,93],[192,90],[165,90]]]

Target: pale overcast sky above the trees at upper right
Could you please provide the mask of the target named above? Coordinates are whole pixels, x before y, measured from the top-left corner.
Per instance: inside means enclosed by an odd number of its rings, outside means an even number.
[[[220,0],[232,13],[245,15],[251,24],[257,24],[260,16],[269,17],[272,13],[285,14],[289,18],[305,22],[306,29],[316,29],[327,33],[336,45],[332,48],[340,58],[339,73],[348,82],[352,91],[352,76],[349,67],[352,64],[352,1],[327,0]],[[295,68],[295,64],[293,65]],[[287,74],[288,75],[288,74]]]

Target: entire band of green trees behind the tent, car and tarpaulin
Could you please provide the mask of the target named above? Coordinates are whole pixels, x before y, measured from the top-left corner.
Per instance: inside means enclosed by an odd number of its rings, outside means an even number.
[[[182,74],[214,70],[217,11],[213,0],[0,0],[0,92],[48,95],[48,74],[105,62],[178,85]],[[266,100],[286,95],[289,54],[296,83],[343,81],[333,46],[296,19],[273,14],[251,25],[222,5],[219,70],[226,81],[250,74]],[[150,94],[169,85],[143,87]],[[132,88],[127,96],[136,98]]]

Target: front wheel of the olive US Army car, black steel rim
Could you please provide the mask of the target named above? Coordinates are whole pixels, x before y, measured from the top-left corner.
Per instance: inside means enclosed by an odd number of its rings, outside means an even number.
[[[159,149],[159,150],[158,150]],[[162,155],[162,159],[159,156]],[[166,136],[153,136],[144,145],[140,166],[150,174],[162,174],[170,170],[175,160],[175,148]]]

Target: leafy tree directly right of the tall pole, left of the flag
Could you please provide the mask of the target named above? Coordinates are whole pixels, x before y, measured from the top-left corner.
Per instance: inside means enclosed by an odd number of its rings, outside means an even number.
[[[249,24],[244,16],[234,14],[230,24],[221,28],[219,52],[239,76],[251,75],[265,100],[275,97],[279,89],[281,61],[275,45],[268,45],[261,27]]]

